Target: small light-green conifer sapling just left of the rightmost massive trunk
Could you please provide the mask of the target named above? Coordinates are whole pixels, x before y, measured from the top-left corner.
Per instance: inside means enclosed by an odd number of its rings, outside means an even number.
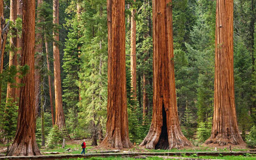
[[[211,136],[211,122],[200,122],[197,127],[197,139],[200,142],[204,142],[210,136]]]

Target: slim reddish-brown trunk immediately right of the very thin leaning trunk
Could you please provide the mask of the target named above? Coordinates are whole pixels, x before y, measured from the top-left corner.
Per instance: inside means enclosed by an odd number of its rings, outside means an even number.
[[[53,0],[53,24],[59,25],[59,0]],[[59,62],[59,31],[53,33],[53,66],[54,66],[54,89],[55,89],[55,124],[59,129],[66,129],[64,112],[62,107],[62,87],[60,79]]]

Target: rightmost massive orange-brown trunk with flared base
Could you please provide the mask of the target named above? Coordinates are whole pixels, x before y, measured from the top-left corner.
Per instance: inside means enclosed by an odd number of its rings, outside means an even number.
[[[234,93],[233,0],[217,0],[214,113],[206,144],[240,144]]]

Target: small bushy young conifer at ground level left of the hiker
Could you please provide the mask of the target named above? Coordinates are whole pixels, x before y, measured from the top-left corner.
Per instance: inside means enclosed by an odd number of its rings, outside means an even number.
[[[47,136],[47,146],[49,148],[55,148],[57,144],[62,143],[62,139],[62,132],[59,131],[59,127],[57,125],[54,125]]]

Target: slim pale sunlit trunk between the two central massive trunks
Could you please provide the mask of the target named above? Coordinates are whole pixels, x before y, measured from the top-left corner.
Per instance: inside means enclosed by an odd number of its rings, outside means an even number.
[[[135,2],[136,0],[134,0]],[[137,88],[136,88],[136,21],[135,21],[136,9],[132,10],[131,16],[131,33],[130,33],[130,72],[131,72],[131,88],[133,93],[133,99],[137,97]]]

